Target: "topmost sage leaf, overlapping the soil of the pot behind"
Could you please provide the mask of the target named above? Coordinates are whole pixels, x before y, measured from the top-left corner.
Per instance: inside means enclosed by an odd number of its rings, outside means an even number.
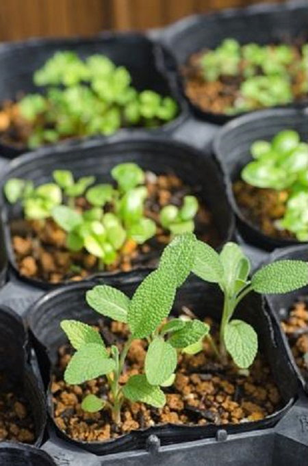
[[[164,249],[159,269],[166,270],[169,279],[180,287],[192,270],[195,257],[196,237],[194,233],[176,236]]]

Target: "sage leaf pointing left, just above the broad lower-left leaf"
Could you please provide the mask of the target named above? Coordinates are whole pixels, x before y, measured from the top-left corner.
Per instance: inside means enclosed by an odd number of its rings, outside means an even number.
[[[101,335],[90,325],[77,320],[62,320],[60,325],[75,350],[79,350],[81,346],[88,343],[97,343],[104,346]]]

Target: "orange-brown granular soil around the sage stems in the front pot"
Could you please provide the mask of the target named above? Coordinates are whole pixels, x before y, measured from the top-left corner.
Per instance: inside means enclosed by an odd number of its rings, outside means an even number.
[[[212,337],[217,341],[218,328],[211,320],[206,322],[212,325]],[[123,346],[127,338],[125,324],[104,320],[99,322],[99,328],[107,346]],[[146,346],[144,340],[133,342],[120,383],[126,383],[129,375],[142,373]],[[179,356],[175,383],[164,389],[167,403],[163,409],[127,401],[123,404],[120,425],[116,426],[107,410],[86,413],[81,409],[81,401],[89,393],[105,399],[110,397],[105,377],[82,385],[64,382],[64,370],[73,352],[69,345],[59,349],[57,367],[52,375],[51,397],[55,423],[75,440],[103,441],[131,430],[166,423],[223,425],[257,421],[282,406],[270,369],[260,354],[249,372],[241,372],[231,361],[222,365],[205,341],[203,352]]]

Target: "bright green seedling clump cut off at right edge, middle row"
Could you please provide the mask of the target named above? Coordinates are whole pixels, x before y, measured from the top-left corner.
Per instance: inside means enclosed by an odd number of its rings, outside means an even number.
[[[258,140],[251,146],[253,161],[242,170],[246,183],[273,190],[286,190],[286,210],[276,222],[294,233],[298,241],[308,240],[308,144],[293,130],[277,133],[271,142]]]

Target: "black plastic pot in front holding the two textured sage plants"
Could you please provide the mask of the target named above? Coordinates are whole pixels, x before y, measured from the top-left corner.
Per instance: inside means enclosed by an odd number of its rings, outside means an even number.
[[[97,283],[99,281],[95,282],[95,284]],[[128,296],[131,296],[140,283],[140,274],[130,274],[129,281],[119,280],[114,277],[106,279],[104,283],[115,286]],[[27,322],[34,337],[34,346],[46,386],[49,383],[49,371],[57,361],[57,348],[66,342],[66,337],[60,329],[60,322],[63,319],[81,320],[88,322],[88,324],[97,322],[97,313],[88,307],[85,300],[86,291],[93,285],[94,282],[78,283],[53,290],[40,298],[27,313]],[[222,295],[213,285],[190,280],[177,293],[174,312],[177,313],[180,311],[183,305],[190,307],[201,318],[209,315],[217,319],[222,309]],[[242,306],[239,307],[236,315],[242,317],[246,322],[253,324],[257,331],[261,352],[266,357],[274,380],[281,392],[283,408],[261,421],[224,425],[223,429],[229,434],[273,426],[290,408],[292,398],[298,391],[294,372],[287,365],[287,354],[285,354],[281,334],[273,328],[270,314],[261,306],[261,298],[256,295],[248,296],[242,303]],[[49,412],[52,417],[53,409],[50,401],[51,397],[49,396]],[[221,428],[222,426],[211,424],[207,426],[166,424],[165,426],[131,432],[118,437],[118,439],[103,443],[87,443],[68,438],[55,426],[57,435],[64,437],[66,441],[80,448],[98,455],[145,448],[147,442],[151,441],[149,440],[151,435],[156,435],[162,445],[167,445],[214,437]],[[131,464],[133,465],[133,462]]]

